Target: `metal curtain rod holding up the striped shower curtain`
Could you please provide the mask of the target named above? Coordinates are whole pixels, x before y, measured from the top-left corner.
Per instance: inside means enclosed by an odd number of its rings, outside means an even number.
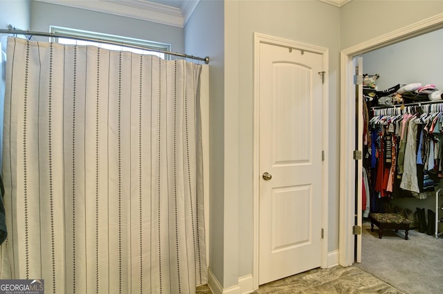
[[[170,51],[159,50],[159,49],[154,49],[154,48],[148,48],[146,46],[139,46],[139,45],[134,45],[134,44],[126,43],[126,42],[114,42],[114,41],[109,41],[109,40],[100,39],[100,38],[89,38],[89,37],[81,37],[81,36],[75,36],[75,35],[73,36],[73,35],[64,35],[64,34],[34,32],[31,30],[17,30],[17,29],[12,29],[12,30],[11,29],[8,29],[8,30],[0,29],[0,34],[41,36],[41,37],[66,38],[66,39],[77,39],[77,40],[82,40],[82,41],[100,42],[103,44],[119,45],[119,46],[125,46],[125,47],[129,47],[129,48],[150,50],[150,51],[164,53],[164,54],[168,54],[168,55],[174,55],[174,56],[179,56],[179,57],[201,60],[201,61],[204,61],[206,64],[209,64],[209,57],[208,56],[197,57],[197,56],[193,56],[193,55],[187,55],[184,53],[176,53],[176,52],[170,52]]]

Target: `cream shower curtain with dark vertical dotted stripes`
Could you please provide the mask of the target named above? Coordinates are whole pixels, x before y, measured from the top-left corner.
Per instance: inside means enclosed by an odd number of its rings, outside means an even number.
[[[205,284],[201,65],[8,39],[0,278],[45,293]]]

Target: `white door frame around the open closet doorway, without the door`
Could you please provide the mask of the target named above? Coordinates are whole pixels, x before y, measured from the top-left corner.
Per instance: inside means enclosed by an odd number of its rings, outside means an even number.
[[[352,159],[352,152],[355,149],[355,88],[353,84],[355,69],[352,66],[352,59],[356,55],[440,28],[443,28],[443,13],[341,51],[340,229],[338,241],[339,264],[341,266],[351,266],[354,263],[352,226],[354,226],[355,208],[355,161]],[[363,134],[361,135],[363,136]]]

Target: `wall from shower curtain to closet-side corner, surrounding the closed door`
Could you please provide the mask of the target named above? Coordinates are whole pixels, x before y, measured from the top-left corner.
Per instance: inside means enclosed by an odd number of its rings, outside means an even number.
[[[329,48],[328,248],[338,249],[340,10],[312,0],[219,3],[199,3],[185,44],[211,57],[209,266],[229,288],[253,272],[253,33]]]

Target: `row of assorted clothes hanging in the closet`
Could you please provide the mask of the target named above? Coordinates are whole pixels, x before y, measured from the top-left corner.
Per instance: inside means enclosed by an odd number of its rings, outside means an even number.
[[[435,189],[433,175],[443,178],[442,124],[443,111],[379,114],[370,118],[372,154],[365,163],[373,172],[377,199],[425,199]]]

